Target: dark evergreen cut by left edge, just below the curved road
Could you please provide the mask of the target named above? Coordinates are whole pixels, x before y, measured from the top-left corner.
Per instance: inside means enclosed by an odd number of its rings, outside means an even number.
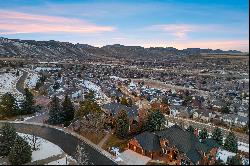
[[[5,123],[0,130],[0,156],[7,156],[17,137],[14,127],[9,123]]]

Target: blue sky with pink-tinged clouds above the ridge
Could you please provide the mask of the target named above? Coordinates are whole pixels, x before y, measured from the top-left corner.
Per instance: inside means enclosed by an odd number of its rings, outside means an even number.
[[[0,36],[249,51],[248,0],[0,0]]]

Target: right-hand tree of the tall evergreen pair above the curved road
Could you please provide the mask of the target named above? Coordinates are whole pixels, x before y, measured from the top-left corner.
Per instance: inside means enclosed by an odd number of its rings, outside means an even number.
[[[70,122],[74,119],[74,113],[75,109],[74,106],[69,98],[69,96],[66,94],[64,101],[62,103],[62,116],[63,116],[63,121],[64,125],[68,126]]]

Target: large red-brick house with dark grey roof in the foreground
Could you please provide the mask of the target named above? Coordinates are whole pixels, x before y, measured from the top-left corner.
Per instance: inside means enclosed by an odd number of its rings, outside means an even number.
[[[213,139],[203,142],[178,125],[157,132],[143,132],[128,143],[128,149],[169,165],[214,164],[219,145]]]

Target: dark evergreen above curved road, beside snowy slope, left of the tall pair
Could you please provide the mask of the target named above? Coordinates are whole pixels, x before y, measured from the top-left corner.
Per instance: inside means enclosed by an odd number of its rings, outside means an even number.
[[[21,103],[21,114],[32,114],[35,112],[35,101],[33,94],[28,88],[24,89],[24,101]]]

